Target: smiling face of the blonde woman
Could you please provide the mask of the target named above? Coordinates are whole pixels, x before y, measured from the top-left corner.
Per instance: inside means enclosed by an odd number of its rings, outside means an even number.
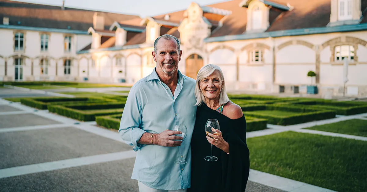
[[[218,99],[222,90],[221,76],[214,71],[210,76],[200,80],[200,90],[206,99]]]

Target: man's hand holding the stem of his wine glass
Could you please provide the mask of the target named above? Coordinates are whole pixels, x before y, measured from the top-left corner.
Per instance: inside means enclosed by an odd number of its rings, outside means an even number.
[[[163,147],[177,147],[180,146],[182,143],[183,137],[175,136],[182,134],[181,131],[171,131],[171,130],[164,130],[159,134],[153,135],[153,144],[163,146]],[[174,140],[181,140],[181,141],[174,141]]]

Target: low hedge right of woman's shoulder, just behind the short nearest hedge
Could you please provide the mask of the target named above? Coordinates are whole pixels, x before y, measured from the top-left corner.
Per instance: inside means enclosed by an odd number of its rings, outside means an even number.
[[[262,109],[264,110],[264,109]],[[310,121],[324,120],[329,118],[335,118],[334,110],[317,110],[309,107],[298,107],[298,106],[286,106],[284,104],[273,104],[266,105],[266,110],[280,110],[280,111],[291,111],[300,112],[299,114],[293,114],[290,116],[277,116],[269,114],[257,114],[251,111],[243,112],[246,116],[266,118],[269,124],[274,125],[294,125],[299,123],[306,123]]]

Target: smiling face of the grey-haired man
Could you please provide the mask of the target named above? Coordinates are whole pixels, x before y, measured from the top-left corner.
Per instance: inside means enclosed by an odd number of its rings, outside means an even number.
[[[160,70],[167,75],[172,75],[178,68],[178,61],[181,60],[182,50],[178,50],[175,39],[160,38],[156,45],[157,53],[152,52],[154,61],[157,62],[156,70]]]

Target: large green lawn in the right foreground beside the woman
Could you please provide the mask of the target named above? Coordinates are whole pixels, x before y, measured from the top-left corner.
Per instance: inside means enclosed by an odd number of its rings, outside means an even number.
[[[367,191],[367,142],[297,132],[248,138],[250,168],[339,192]]]

